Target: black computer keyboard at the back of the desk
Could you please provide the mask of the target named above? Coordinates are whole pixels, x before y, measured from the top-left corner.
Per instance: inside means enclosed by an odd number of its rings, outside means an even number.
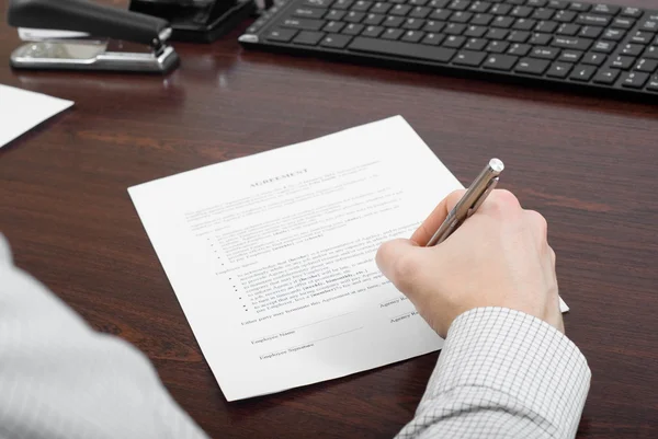
[[[277,0],[239,41],[320,58],[658,96],[658,11],[563,0]]]

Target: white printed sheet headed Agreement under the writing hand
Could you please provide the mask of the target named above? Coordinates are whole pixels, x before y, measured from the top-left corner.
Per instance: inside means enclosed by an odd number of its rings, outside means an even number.
[[[374,256],[461,187],[397,116],[128,190],[234,401],[440,349]]]

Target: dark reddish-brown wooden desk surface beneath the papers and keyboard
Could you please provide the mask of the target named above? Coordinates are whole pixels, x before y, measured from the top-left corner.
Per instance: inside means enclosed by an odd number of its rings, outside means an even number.
[[[19,72],[0,25],[0,83],[76,102],[0,150],[19,266],[144,350],[213,437],[390,438],[436,354],[226,403],[126,188],[401,114],[465,184],[503,159],[503,187],[548,219],[567,334],[593,373],[579,437],[658,437],[658,106],[243,51],[237,35],[177,44],[167,78]]]

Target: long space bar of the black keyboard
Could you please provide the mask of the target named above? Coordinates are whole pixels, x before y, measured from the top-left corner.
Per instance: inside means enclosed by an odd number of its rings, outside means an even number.
[[[370,54],[394,55],[405,58],[427,59],[429,61],[447,62],[455,56],[454,49],[411,44],[390,39],[366,38],[358,36],[348,46],[352,51],[366,51]]]

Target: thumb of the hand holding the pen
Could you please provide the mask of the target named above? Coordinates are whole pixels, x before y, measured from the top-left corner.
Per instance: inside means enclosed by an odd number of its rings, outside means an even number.
[[[375,262],[382,274],[402,293],[407,294],[422,273],[424,247],[411,240],[393,240],[383,243],[377,250]]]

